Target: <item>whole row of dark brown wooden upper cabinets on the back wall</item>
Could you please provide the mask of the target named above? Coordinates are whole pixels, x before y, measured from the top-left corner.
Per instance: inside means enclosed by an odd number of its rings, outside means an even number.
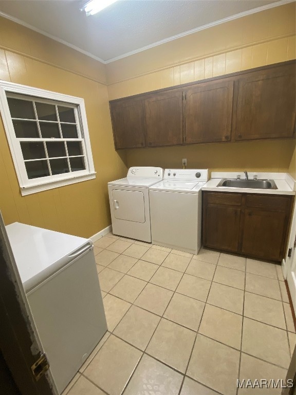
[[[295,136],[295,61],[110,101],[115,148]]]

